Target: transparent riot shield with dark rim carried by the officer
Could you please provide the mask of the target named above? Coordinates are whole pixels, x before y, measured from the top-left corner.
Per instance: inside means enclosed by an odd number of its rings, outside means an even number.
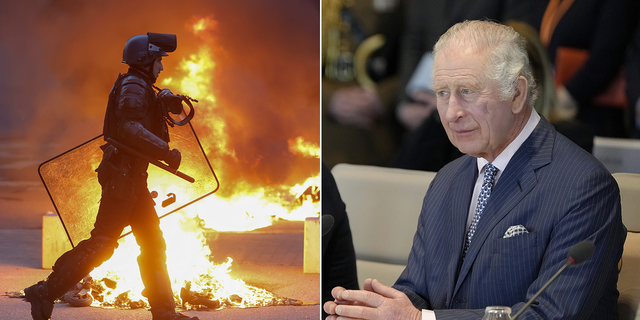
[[[190,183],[149,165],[148,187],[152,194],[158,195],[154,200],[160,218],[215,193],[220,186],[191,123],[170,127],[169,135],[171,148],[178,148],[182,153],[180,171],[195,181]],[[100,146],[103,144],[105,141],[100,135],[38,168],[72,246],[89,238],[98,214],[102,189],[95,169],[102,160]]]

